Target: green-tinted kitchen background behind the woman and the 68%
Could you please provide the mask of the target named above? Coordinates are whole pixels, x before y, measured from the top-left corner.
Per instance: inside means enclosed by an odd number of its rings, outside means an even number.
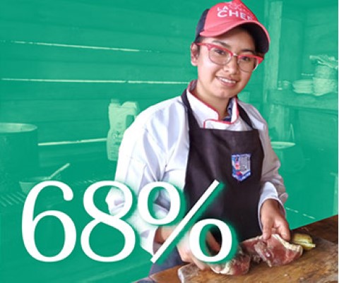
[[[20,150],[4,162],[8,152],[1,152],[0,282],[133,282],[148,274],[150,255],[138,247],[119,263],[97,263],[83,254],[81,229],[90,221],[83,192],[90,183],[114,178],[105,140],[109,102],[136,101],[142,110],[180,95],[196,78],[189,45],[197,20],[216,3],[0,0],[0,122],[37,125],[38,143],[38,164]],[[338,88],[316,96],[292,87],[296,80],[317,76],[319,65],[310,55],[338,59],[338,3],[244,3],[267,26],[271,45],[239,97],[263,114],[273,141],[295,143],[276,151],[290,195],[286,209],[293,229],[338,214]],[[332,76],[338,81],[338,73]],[[8,146],[4,140],[1,146]],[[61,191],[50,188],[40,195],[35,210],[35,215],[61,210],[75,222],[77,244],[66,260],[40,263],[25,251],[20,227],[25,195],[18,179],[6,171],[15,159],[20,160],[13,164],[17,171],[30,167],[37,175],[71,163],[60,178],[73,189],[73,200],[63,201]],[[95,195],[103,211],[107,191],[102,188]],[[59,253],[63,237],[53,217],[37,227],[37,246],[45,255]],[[108,256],[124,240],[102,224],[91,241],[97,253]]]

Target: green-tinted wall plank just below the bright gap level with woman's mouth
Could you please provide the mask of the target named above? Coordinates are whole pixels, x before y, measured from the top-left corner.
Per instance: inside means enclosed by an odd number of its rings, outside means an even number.
[[[192,76],[193,77],[193,76]],[[189,81],[187,81],[188,83]],[[0,80],[1,100],[154,100],[181,95],[186,83],[58,83]]]

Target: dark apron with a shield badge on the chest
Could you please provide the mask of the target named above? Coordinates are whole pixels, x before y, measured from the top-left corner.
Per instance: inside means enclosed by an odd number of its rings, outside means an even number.
[[[186,90],[182,101],[189,119],[189,157],[184,193],[188,210],[214,181],[225,187],[206,209],[201,219],[221,219],[234,228],[238,241],[261,234],[258,224],[258,200],[261,190],[263,148],[258,130],[239,106],[239,116],[251,131],[226,131],[200,128],[194,118]],[[219,231],[213,236],[220,241]],[[150,274],[183,264],[176,248],[161,264],[153,264]]]

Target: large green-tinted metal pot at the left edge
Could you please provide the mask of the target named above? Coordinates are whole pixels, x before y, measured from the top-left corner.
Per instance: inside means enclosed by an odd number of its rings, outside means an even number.
[[[37,173],[37,126],[0,123],[0,193],[20,190],[18,181]]]

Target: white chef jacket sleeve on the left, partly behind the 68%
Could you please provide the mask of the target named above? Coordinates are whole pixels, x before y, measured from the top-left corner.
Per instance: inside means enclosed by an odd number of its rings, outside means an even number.
[[[138,195],[143,186],[162,179],[162,169],[165,168],[164,152],[155,138],[136,120],[124,133],[119,148],[119,158],[115,181],[124,183]],[[151,164],[151,165],[150,165]],[[168,196],[161,193],[159,201],[155,201],[153,209],[157,217],[165,217],[169,210],[164,203]],[[114,215],[124,205],[124,195],[117,188],[112,188],[106,198],[109,212]],[[156,226],[143,221],[138,210],[135,210],[127,220],[140,236],[141,246],[153,254],[160,245],[153,243]]]

